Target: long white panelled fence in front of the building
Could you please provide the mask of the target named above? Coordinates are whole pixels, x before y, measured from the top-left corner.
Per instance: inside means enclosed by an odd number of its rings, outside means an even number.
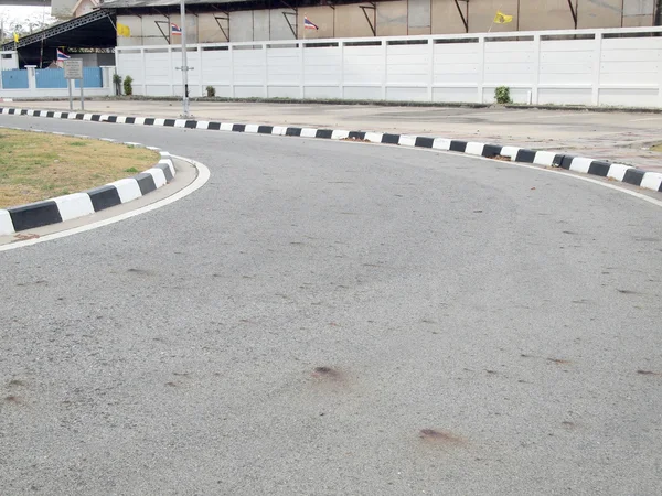
[[[181,95],[179,46],[117,47],[137,95]],[[662,28],[197,44],[191,96],[662,107]]]

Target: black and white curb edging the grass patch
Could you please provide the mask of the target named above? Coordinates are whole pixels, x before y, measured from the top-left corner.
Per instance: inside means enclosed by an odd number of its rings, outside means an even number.
[[[57,132],[56,134],[64,133]],[[79,134],[76,134],[76,137],[89,138]],[[118,142],[111,139],[104,139],[103,141]],[[140,143],[121,144],[142,147]],[[0,236],[84,217],[111,206],[131,202],[162,187],[172,181],[175,175],[172,157],[158,148],[146,148],[159,152],[161,159],[145,172],[82,193],[0,209]]]

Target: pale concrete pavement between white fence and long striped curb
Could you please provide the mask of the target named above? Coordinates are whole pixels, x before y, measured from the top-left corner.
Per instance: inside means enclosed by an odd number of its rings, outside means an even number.
[[[68,101],[23,100],[12,106],[68,110]],[[175,118],[181,115],[181,104],[88,100],[85,111]],[[496,142],[568,152],[662,172],[662,153],[647,150],[651,143],[662,141],[662,114],[207,101],[193,101],[191,112],[199,120],[429,134]]]

